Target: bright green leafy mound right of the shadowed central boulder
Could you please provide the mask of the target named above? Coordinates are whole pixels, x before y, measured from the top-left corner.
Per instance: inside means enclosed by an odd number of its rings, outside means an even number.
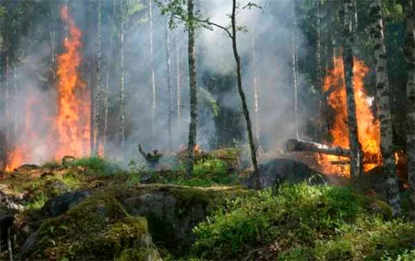
[[[378,211],[370,214],[371,209]],[[362,200],[349,189],[284,185],[276,195],[268,190],[252,197],[239,197],[215,211],[206,222],[194,228],[197,240],[193,251],[202,258],[235,258],[258,245],[277,242],[281,249],[303,246],[303,249],[294,249],[293,255],[304,257],[310,255],[306,250],[313,248],[318,240],[342,238],[350,227],[365,229],[358,220],[369,216],[387,217],[384,212],[390,212],[385,204]],[[378,220],[377,224],[384,224]],[[348,242],[339,244],[346,247]],[[340,248],[333,245],[333,249]]]

